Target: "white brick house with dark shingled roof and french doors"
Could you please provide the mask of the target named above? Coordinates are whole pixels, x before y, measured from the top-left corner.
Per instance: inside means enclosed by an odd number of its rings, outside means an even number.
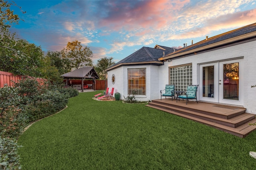
[[[149,101],[160,99],[166,84],[175,84],[176,90],[199,84],[198,101],[256,113],[256,88],[251,88],[256,84],[256,23],[182,49],[142,47],[107,71],[108,86],[121,99],[133,89],[139,92],[136,100]]]

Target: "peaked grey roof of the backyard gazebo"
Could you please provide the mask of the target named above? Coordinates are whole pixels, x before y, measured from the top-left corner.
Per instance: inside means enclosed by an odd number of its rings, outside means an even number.
[[[91,66],[78,68],[77,70],[62,74],[61,76],[64,78],[99,78],[98,74]]]

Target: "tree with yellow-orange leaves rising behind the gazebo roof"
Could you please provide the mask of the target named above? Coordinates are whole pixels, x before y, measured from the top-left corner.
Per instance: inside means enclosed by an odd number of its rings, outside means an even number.
[[[71,68],[92,66],[92,51],[89,47],[83,47],[78,40],[68,42],[67,47],[62,49],[62,58],[70,61]]]

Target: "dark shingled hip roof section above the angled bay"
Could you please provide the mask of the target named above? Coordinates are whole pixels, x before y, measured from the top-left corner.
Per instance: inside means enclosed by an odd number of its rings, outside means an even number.
[[[164,47],[164,46],[162,46]],[[122,59],[118,63],[110,66],[108,70],[118,64],[122,63],[145,63],[145,62],[151,62],[151,64],[156,64],[156,65],[162,65],[162,63],[159,63],[158,58],[163,57],[165,54],[173,53],[174,49],[170,47],[165,47],[166,50],[162,49],[155,49],[155,48],[150,48],[150,47],[142,47],[138,51],[132,53],[128,57]],[[164,53],[163,53],[164,52]],[[156,62],[156,63],[154,63]]]

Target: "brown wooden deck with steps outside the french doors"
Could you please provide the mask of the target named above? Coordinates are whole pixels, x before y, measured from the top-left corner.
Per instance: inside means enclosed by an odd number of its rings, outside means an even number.
[[[146,106],[204,123],[238,137],[246,137],[256,130],[256,126],[249,125],[256,123],[255,115],[245,113],[244,107],[193,101],[186,105],[185,100],[176,102],[172,98],[152,100]]]

